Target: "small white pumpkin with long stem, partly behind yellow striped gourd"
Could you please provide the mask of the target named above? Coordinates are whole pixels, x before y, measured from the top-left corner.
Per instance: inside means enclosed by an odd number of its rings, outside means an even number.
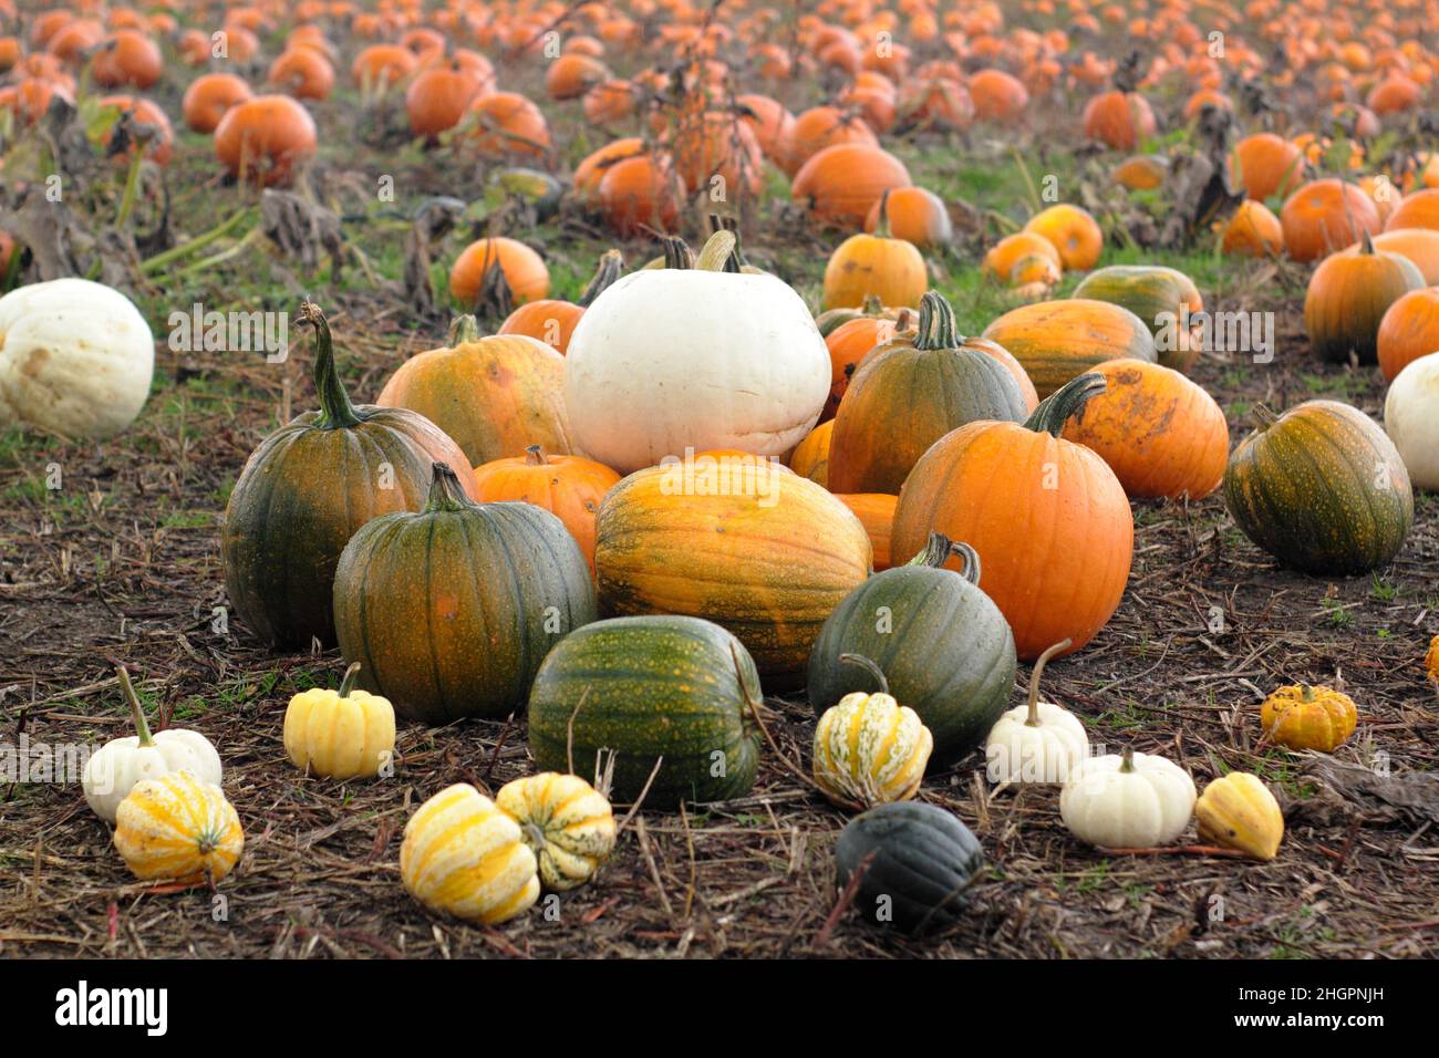
[[[160,779],[171,772],[190,772],[201,783],[219,786],[220,754],[210,741],[199,731],[183,728],[150,734],[150,724],[145,721],[144,710],[140,708],[135,688],[130,684],[130,674],[124,666],[115,672],[135,718],[138,734],[105,743],[85,761],[81,789],[85,790],[85,802],[95,815],[114,823],[119,803],[137,783]]]

